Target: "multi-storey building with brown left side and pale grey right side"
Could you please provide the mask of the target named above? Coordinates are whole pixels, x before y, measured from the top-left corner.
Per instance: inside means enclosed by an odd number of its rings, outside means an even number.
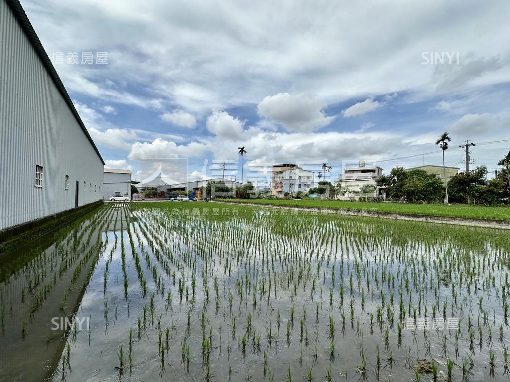
[[[278,171],[275,171],[276,170]],[[292,163],[287,166],[273,166],[272,194],[283,198],[286,193],[297,195],[298,192],[308,193],[314,187],[314,172],[304,170]]]

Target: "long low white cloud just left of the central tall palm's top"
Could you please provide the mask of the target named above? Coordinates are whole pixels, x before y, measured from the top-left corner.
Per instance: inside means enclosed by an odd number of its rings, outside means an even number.
[[[201,155],[207,146],[198,142],[187,145],[177,145],[175,142],[165,141],[161,138],[153,142],[136,142],[131,147],[130,159],[156,159],[156,158],[188,158]]]

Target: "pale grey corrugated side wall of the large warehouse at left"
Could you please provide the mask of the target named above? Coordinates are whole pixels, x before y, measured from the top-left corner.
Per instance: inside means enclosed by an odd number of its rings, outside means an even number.
[[[77,180],[79,206],[103,199],[103,163],[0,0],[0,230],[74,208]]]

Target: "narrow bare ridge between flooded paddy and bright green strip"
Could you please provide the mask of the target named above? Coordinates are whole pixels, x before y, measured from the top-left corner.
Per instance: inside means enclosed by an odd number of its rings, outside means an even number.
[[[382,219],[394,220],[409,220],[413,222],[428,222],[440,224],[453,224],[457,226],[469,227],[484,227],[484,228],[499,228],[510,230],[510,222],[498,220],[483,220],[483,219],[467,219],[464,217],[450,217],[450,216],[431,216],[431,215],[416,215],[416,214],[403,214],[393,212],[378,212],[378,211],[362,211],[362,210],[347,210],[347,209],[333,209],[333,208],[312,208],[312,207],[295,207],[295,206],[274,206],[263,205],[259,203],[239,203],[239,202],[226,202],[226,201],[211,201],[212,203],[222,203],[231,205],[245,205],[252,207],[263,207],[273,209],[289,209],[298,211],[310,211],[318,213],[336,213],[339,215],[353,215],[353,216],[367,216],[367,217],[380,217]]]

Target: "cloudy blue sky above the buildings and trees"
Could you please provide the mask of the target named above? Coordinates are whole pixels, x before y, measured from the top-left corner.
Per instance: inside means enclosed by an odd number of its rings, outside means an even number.
[[[510,148],[510,3],[21,2],[109,167],[187,158],[190,178],[297,162],[496,162]],[[107,64],[67,64],[107,52]],[[441,58],[444,60],[441,60]],[[425,156],[422,153],[430,153]],[[405,157],[405,158],[402,158]],[[217,168],[217,166],[216,166]],[[168,169],[171,172],[171,169]]]

